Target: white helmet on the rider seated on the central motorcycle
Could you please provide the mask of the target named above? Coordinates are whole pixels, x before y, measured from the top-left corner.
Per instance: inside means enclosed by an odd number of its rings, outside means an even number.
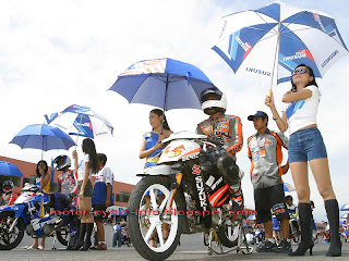
[[[208,98],[212,96],[216,96],[217,100],[208,100]],[[226,95],[216,87],[203,90],[200,96],[200,102],[202,110],[208,115],[217,112],[224,113],[227,110]]]

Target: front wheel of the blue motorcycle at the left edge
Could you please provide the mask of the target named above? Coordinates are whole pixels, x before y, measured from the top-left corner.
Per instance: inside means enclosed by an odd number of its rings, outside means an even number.
[[[0,250],[11,250],[19,246],[24,236],[24,221],[17,219],[12,233],[9,232],[13,221],[15,220],[13,212],[4,212],[0,214]]]

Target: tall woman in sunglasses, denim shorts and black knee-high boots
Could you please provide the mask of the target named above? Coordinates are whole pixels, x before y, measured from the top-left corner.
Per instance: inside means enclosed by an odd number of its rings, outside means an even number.
[[[330,246],[326,253],[329,257],[341,254],[339,239],[339,209],[333,190],[326,147],[316,125],[320,101],[317,84],[313,70],[305,64],[298,65],[292,72],[292,88],[284,95],[287,103],[280,117],[273,96],[267,96],[265,103],[270,108],[273,119],[280,132],[289,129],[289,162],[292,179],[297,189],[302,240],[298,249],[289,256],[304,256],[308,249],[312,253],[314,246],[311,236],[311,206],[308,179],[308,162],[314,175],[318,192],[325,201],[330,226]]]

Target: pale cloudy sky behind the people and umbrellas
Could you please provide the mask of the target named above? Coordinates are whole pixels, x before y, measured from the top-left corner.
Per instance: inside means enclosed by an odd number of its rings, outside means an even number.
[[[234,75],[210,49],[218,37],[220,17],[237,11],[258,9],[272,1],[1,1],[0,2],[0,154],[37,162],[40,152],[8,145],[28,124],[44,123],[44,114],[70,104],[92,107],[115,126],[112,138],[96,140],[105,152],[116,179],[135,184],[143,167],[139,159],[142,135],[151,130],[147,105],[131,104],[107,91],[119,73],[136,61],[172,58],[198,66],[228,97],[227,113],[243,122],[244,140],[255,130],[249,114],[264,110],[268,86],[255,78]],[[318,10],[336,18],[349,45],[347,1],[285,1]],[[136,7],[136,8],[135,8]],[[321,42],[318,44],[321,45]],[[322,100],[318,127],[324,136],[334,188],[340,204],[348,202],[346,138],[349,127],[347,83],[349,57],[342,58],[320,79]],[[289,85],[274,87],[279,99]],[[278,101],[280,104],[280,101]],[[280,107],[279,107],[280,108]],[[194,130],[206,115],[195,110],[168,112],[173,130]],[[276,129],[275,123],[270,128]],[[45,153],[47,160],[62,151]],[[71,151],[68,152],[71,154]],[[81,153],[80,153],[81,154]],[[246,148],[238,153],[245,172],[243,190],[253,208]],[[285,181],[292,184],[290,173]],[[322,199],[310,174],[315,217],[325,219]],[[296,197],[296,194],[292,194]]]

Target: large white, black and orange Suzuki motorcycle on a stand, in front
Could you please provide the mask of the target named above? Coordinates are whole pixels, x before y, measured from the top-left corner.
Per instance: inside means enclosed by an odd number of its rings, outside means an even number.
[[[176,250],[181,234],[217,234],[220,245],[241,250],[243,214],[237,214],[229,186],[212,164],[200,162],[208,147],[207,136],[188,132],[164,139],[158,165],[137,174],[128,203],[128,227],[136,251],[147,260],[164,260]],[[243,213],[243,211],[240,211]],[[238,212],[239,213],[239,212]],[[222,251],[222,249],[221,249]],[[230,250],[231,251],[231,250]],[[218,253],[218,252],[216,252]]]

